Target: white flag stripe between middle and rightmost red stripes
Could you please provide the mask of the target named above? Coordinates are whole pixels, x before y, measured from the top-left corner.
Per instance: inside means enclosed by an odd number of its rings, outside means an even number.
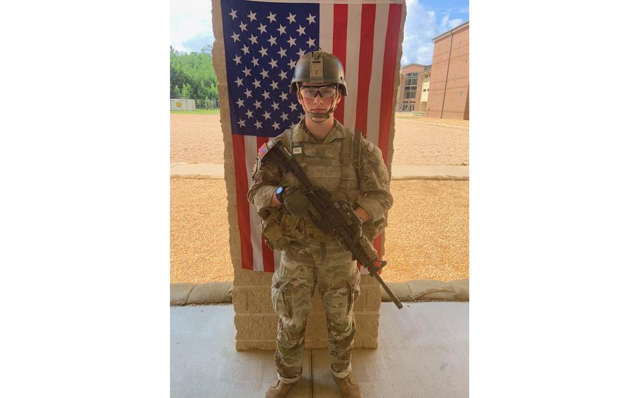
[[[386,49],[386,29],[388,27],[388,4],[375,7],[375,32],[373,39],[373,64],[371,66],[371,83],[369,86],[369,103],[367,115],[367,138],[377,145],[379,143],[379,108],[381,104],[381,77],[384,66],[384,50]]]

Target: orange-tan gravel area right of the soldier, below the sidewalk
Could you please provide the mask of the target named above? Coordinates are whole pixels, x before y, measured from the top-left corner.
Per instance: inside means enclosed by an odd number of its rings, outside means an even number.
[[[468,278],[468,181],[393,180],[383,279]]]

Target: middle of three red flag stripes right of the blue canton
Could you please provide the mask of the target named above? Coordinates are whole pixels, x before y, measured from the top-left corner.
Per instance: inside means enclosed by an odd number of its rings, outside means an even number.
[[[367,135],[374,34],[375,4],[364,4],[362,5],[362,25],[360,29],[360,66],[357,72],[357,111],[355,114],[355,128],[361,128],[364,137]]]

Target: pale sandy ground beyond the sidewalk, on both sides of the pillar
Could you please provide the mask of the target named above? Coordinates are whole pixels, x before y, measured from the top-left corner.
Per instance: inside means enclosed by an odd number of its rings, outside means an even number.
[[[468,165],[468,121],[398,117],[393,145],[395,165]],[[171,114],[171,162],[224,163],[220,116]]]

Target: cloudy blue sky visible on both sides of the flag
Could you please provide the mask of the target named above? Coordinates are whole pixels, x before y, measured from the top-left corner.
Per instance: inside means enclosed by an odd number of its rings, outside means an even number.
[[[407,0],[402,64],[430,64],[433,37],[468,21],[469,0]],[[213,44],[210,0],[171,0],[171,46],[199,51]]]

